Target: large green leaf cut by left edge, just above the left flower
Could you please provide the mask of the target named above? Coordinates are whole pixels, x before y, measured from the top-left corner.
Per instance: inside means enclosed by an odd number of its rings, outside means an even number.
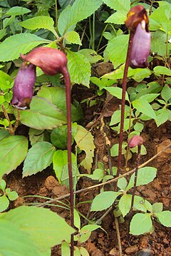
[[[49,43],[49,41],[29,33],[9,36],[0,44],[0,61],[14,61],[19,58],[20,53],[27,53],[42,43]],[[13,51],[11,51],[11,45]]]

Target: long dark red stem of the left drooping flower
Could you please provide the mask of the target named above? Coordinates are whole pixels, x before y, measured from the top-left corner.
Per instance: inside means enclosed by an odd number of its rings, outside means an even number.
[[[63,77],[66,85],[66,112],[67,112],[67,150],[68,150],[68,175],[70,185],[70,205],[71,205],[71,227],[74,227],[74,216],[73,216],[73,173],[72,173],[72,161],[71,161],[71,81],[68,73],[68,69],[63,68]],[[73,256],[74,240],[71,235],[71,256]]]

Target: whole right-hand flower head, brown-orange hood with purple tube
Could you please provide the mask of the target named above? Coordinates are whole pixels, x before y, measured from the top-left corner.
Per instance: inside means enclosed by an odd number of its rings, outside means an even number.
[[[133,45],[130,55],[131,68],[146,68],[150,53],[151,34],[148,30],[149,20],[143,6],[135,6],[128,12],[125,25],[132,31]]]

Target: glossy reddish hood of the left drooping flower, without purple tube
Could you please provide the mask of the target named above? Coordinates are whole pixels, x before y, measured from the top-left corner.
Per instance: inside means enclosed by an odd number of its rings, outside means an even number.
[[[26,55],[21,54],[21,58],[38,66],[48,76],[63,73],[63,68],[67,66],[66,54],[54,48],[34,48]]]

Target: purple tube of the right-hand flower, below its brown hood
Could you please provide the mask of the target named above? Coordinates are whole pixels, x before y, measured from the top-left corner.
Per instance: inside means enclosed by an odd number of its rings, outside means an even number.
[[[151,34],[145,25],[145,20],[142,20],[136,30],[133,37],[133,46],[130,56],[131,68],[146,68],[147,58],[150,53]]]

